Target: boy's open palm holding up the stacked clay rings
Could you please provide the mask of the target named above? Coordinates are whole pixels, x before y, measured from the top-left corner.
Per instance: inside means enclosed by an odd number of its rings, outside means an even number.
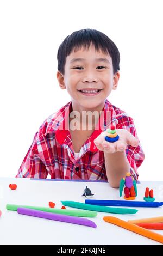
[[[107,130],[102,132],[96,139],[94,143],[99,150],[105,153],[116,153],[124,151],[127,145],[137,147],[139,145],[139,140],[136,139],[130,132],[124,129],[116,129],[117,134],[120,136],[116,142],[105,141],[105,136],[108,135]]]

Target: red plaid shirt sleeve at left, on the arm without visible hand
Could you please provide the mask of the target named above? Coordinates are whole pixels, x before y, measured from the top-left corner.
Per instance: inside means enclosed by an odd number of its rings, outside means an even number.
[[[35,150],[37,150],[36,137],[37,133],[34,136],[34,140],[32,145],[30,146],[24,160],[18,169],[18,173],[16,178],[38,178],[38,179],[46,179],[48,175],[48,171],[46,169],[45,164],[42,163],[40,158],[35,154]]]

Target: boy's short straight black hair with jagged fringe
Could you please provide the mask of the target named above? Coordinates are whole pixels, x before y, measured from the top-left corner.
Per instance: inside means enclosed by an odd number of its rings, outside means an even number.
[[[120,52],[114,42],[102,32],[87,28],[73,32],[61,43],[57,54],[58,71],[64,75],[66,57],[69,56],[73,50],[80,50],[82,46],[89,49],[91,43],[95,46],[96,51],[102,50],[105,54],[109,52],[114,74],[120,70]]]

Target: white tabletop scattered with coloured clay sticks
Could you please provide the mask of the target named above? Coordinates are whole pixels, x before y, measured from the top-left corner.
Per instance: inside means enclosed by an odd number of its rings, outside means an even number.
[[[9,184],[16,183],[17,189],[10,190]],[[98,212],[89,218],[97,228],[72,223],[46,220],[17,214],[5,209],[6,204],[48,207],[48,202],[61,208],[61,200],[84,203],[84,189],[95,194],[91,199],[124,200],[118,189],[103,182],[77,182],[56,180],[30,180],[22,178],[0,178],[0,244],[1,245],[161,245],[159,242],[137,235],[116,225],[107,223],[103,216],[115,216],[122,220],[163,216],[159,208],[136,208],[136,214],[109,214]],[[141,181],[137,184],[136,200],[143,200],[145,188],[153,188],[155,200],[163,201],[163,181]],[[66,209],[74,209],[66,206]],[[163,230],[152,230],[163,235]]]

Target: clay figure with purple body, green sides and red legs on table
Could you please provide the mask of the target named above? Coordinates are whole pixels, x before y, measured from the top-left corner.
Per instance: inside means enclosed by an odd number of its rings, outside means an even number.
[[[125,185],[125,187],[124,187]],[[137,187],[136,181],[133,177],[131,177],[130,172],[126,174],[126,177],[120,181],[120,197],[122,196],[122,191],[124,187],[124,199],[126,200],[134,200],[137,196]]]

